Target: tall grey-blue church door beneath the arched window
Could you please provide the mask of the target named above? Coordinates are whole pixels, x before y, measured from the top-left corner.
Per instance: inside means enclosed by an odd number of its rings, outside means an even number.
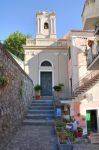
[[[42,86],[42,96],[52,96],[52,72],[41,72],[40,82]]]

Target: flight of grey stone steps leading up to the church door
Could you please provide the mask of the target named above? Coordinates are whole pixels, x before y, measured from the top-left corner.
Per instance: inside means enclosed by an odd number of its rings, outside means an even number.
[[[52,100],[33,100],[23,121],[24,125],[54,125]]]

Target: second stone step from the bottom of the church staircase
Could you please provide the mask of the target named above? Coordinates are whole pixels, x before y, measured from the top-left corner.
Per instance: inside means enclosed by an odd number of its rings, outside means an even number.
[[[28,113],[26,119],[54,119],[54,114],[30,114]]]

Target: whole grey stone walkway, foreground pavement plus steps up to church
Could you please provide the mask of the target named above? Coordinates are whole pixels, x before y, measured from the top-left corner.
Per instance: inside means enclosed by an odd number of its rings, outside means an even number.
[[[33,100],[6,150],[57,150],[52,100]]]

